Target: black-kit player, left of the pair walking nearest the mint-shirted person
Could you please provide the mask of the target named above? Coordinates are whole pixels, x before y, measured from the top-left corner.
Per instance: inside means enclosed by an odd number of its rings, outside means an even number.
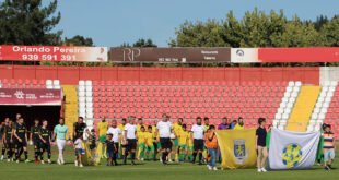
[[[30,135],[30,142],[33,142],[34,145],[34,158],[35,158],[35,163],[39,163],[38,160],[38,156],[40,154],[40,139],[39,139],[39,130],[40,130],[40,125],[39,125],[39,120],[35,119],[34,120],[34,125],[31,127],[31,135]],[[32,144],[31,144],[32,145]]]

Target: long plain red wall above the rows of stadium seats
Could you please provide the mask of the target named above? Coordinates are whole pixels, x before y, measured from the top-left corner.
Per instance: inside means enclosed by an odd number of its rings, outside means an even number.
[[[0,79],[104,81],[302,81],[319,84],[318,67],[301,68],[139,68],[0,65]]]

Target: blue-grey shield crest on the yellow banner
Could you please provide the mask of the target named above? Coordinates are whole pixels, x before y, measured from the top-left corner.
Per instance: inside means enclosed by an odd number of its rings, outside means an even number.
[[[233,140],[232,152],[235,161],[238,164],[244,164],[248,158],[249,149],[246,147],[245,142],[243,139]]]

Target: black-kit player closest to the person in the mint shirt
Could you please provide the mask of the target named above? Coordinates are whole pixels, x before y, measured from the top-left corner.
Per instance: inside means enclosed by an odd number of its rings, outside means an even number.
[[[45,164],[44,161],[44,153],[47,152],[47,157],[48,157],[48,164],[51,164],[50,161],[50,136],[51,136],[51,132],[47,129],[47,120],[43,120],[43,127],[39,129],[39,139],[42,141],[40,143],[40,147],[42,147],[42,152],[40,152],[40,160],[42,164]]]

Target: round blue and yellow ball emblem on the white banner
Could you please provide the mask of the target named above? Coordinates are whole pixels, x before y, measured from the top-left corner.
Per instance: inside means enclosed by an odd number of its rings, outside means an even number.
[[[287,167],[296,167],[302,158],[302,147],[297,144],[289,144],[282,151],[282,164]]]

